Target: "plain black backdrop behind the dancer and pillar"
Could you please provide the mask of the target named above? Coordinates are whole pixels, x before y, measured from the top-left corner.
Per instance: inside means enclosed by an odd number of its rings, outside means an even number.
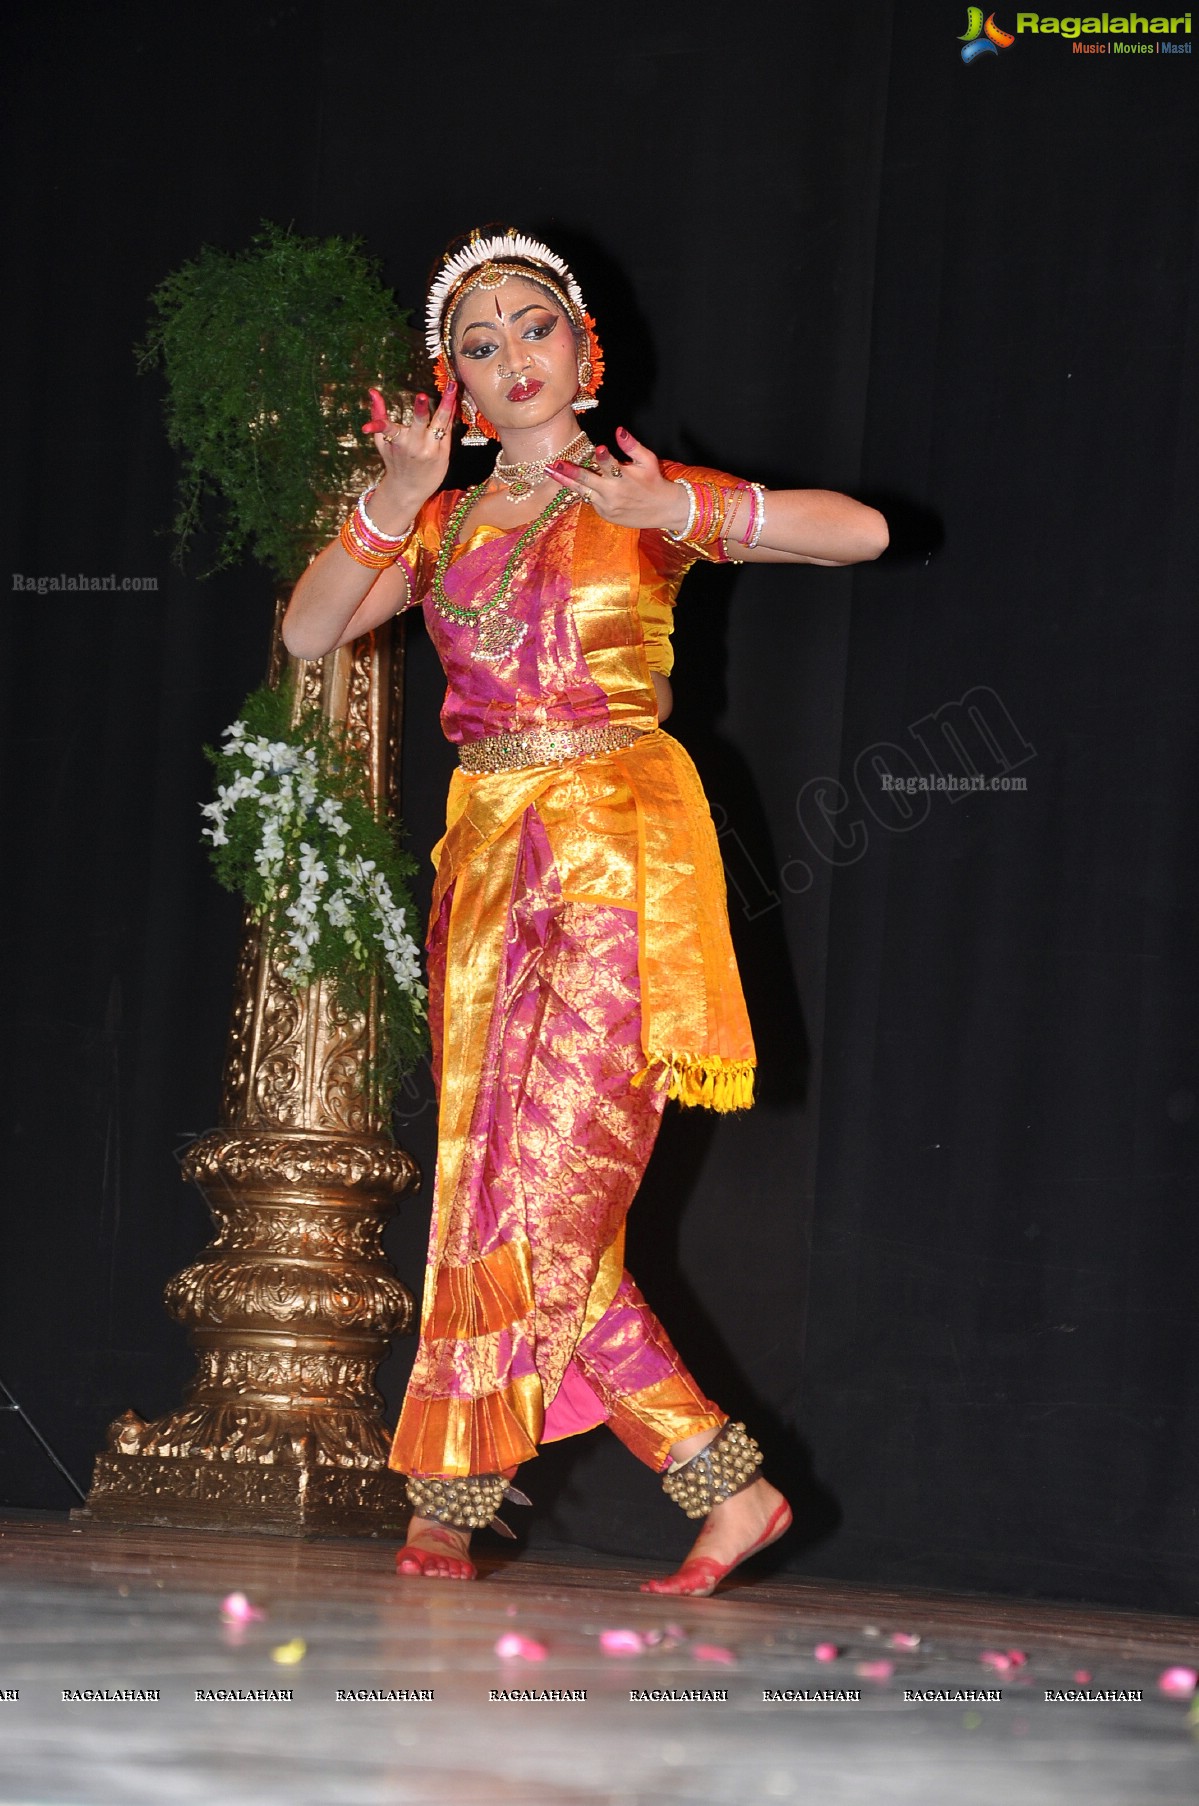
[[[419,305],[511,219],[574,253],[605,437],[865,495],[896,542],[688,580],[672,730],[762,1096],[672,1114],[630,1266],[791,1486],[793,1569],[1199,1607],[1194,60],[966,67],[962,11],[9,11],[7,569],[159,578],[14,589],[4,636],[0,1374],[83,1485],[190,1373],[161,1289],[208,1239],[177,1156],[237,943],[200,744],[269,618],[258,571],[168,563],[146,294],[274,219],[361,233]],[[417,625],[421,854],[439,692]],[[883,784],[971,769],[1026,782]],[[397,1129],[428,1172],[424,1078]],[[428,1188],[388,1235],[414,1286],[426,1221]],[[0,1501],[72,1503],[11,1416],[0,1454]],[[686,1544],[610,1436],[522,1483],[542,1546]]]

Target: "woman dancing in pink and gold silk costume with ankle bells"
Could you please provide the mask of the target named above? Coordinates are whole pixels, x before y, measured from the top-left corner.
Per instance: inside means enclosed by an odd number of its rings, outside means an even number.
[[[753,1094],[724,874],[670,713],[672,609],[697,558],[843,565],[887,524],[827,489],[592,446],[600,343],[547,246],[471,233],[426,305],[441,406],[383,462],[296,585],[283,641],[321,657],[424,605],[459,744],[428,934],[439,1094],[421,1344],[392,1447],[414,1506],[401,1573],[473,1578],[469,1531],[544,1441],[607,1421],[690,1517],[646,1591],[711,1593],[791,1522],[758,1445],[706,1398],[625,1270],[625,1215],[668,1096]],[[455,414],[498,439],[442,489]],[[507,1531],[511,1535],[511,1531]]]

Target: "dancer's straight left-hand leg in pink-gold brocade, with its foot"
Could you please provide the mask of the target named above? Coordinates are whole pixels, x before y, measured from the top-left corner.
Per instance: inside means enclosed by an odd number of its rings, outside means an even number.
[[[533,825],[529,845],[534,856]],[[525,892],[542,905],[549,876]],[[558,1392],[592,1299],[601,1308],[618,1284],[623,1219],[661,1120],[661,1093],[630,1084],[643,1064],[636,914],[549,903],[515,908],[464,1183],[430,1237],[394,1452],[417,1483],[511,1476],[500,1461],[540,1443],[542,1400]],[[397,1566],[471,1578],[468,1550],[459,1522],[417,1513]]]

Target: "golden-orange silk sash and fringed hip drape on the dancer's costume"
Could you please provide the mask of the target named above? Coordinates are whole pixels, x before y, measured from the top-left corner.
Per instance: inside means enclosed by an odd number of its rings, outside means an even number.
[[[583,507],[572,556],[574,619],[610,721],[648,731],[618,753],[563,766],[453,773],[446,834],[433,849],[433,916],[453,887],[439,1134],[446,1197],[471,1129],[520,818],[531,805],[549,834],[565,899],[637,910],[643,1080],[717,1111],[753,1102],[753,1035],[715,827],[690,757],[652,728],[637,535]]]

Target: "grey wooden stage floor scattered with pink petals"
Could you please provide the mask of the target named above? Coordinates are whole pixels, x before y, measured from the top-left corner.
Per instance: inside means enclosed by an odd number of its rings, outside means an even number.
[[[666,1602],[645,1568],[480,1542],[453,1584],[397,1578],[374,1541],[0,1515],[0,1806],[1199,1799],[1199,1708],[1157,1689],[1199,1665],[1199,1620],[785,1577]],[[222,1624],[233,1591],[264,1616]],[[654,1640],[610,1656],[610,1629]],[[497,1654],[511,1634],[544,1660]],[[1141,1698],[1046,1699],[1083,1687]],[[63,1698],[88,1689],[117,1698]]]

